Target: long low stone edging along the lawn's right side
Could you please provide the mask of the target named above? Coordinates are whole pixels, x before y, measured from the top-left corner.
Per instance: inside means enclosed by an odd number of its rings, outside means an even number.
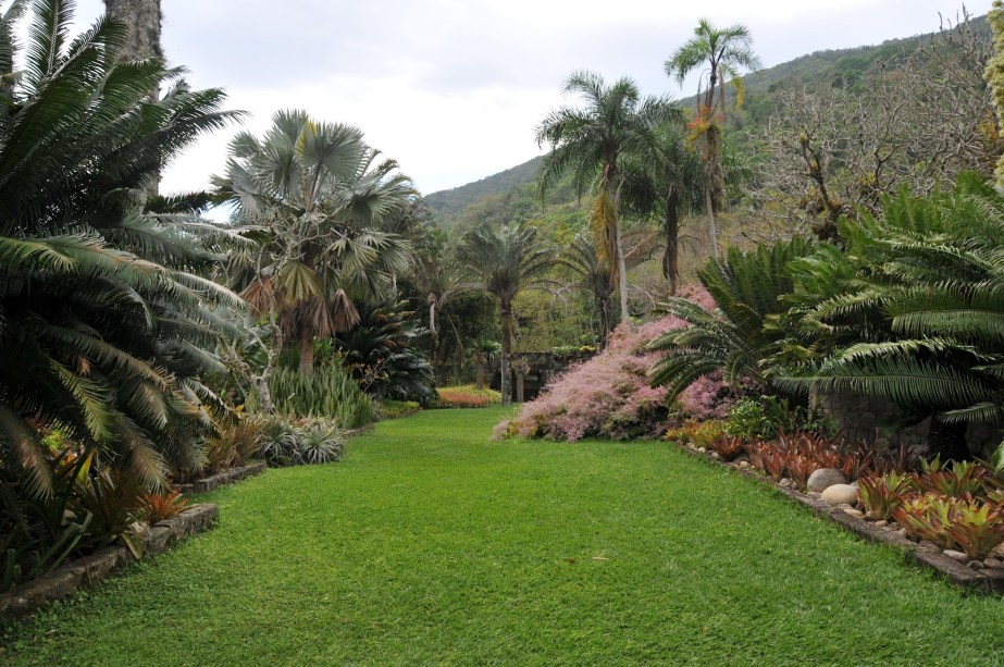
[[[747,479],[772,486],[789,498],[811,509],[816,516],[829,519],[839,524],[841,528],[856,534],[864,540],[867,540],[868,542],[888,544],[889,546],[893,546],[903,551],[914,563],[944,576],[949,581],[957,586],[976,590],[982,593],[1004,595],[1004,570],[1002,569],[971,569],[966,565],[945,556],[941,549],[928,546],[924,543],[918,544],[913,540],[904,538],[897,531],[892,530],[889,527],[879,527],[876,523],[865,520],[864,518],[847,514],[840,506],[830,505],[829,503],[815,498],[811,495],[804,494],[794,489],[781,486],[769,478],[758,474],[752,469],[745,469],[736,464],[723,461],[720,458],[711,456],[710,453],[699,452],[692,445],[687,446],[680,443],[675,444],[680,449],[686,452],[687,454],[699,457],[710,464],[717,464],[724,468],[729,468]]]

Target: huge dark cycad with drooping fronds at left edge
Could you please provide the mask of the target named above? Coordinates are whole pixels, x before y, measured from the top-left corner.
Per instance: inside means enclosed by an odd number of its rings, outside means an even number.
[[[32,3],[14,72],[26,5],[0,18],[0,465],[49,494],[37,427],[58,422],[157,486],[199,464],[215,403],[199,375],[227,330],[210,308],[241,301],[198,273],[219,259],[200,237],[218,231],[139,202],[162,164],[233,114],[222,91],[194,91],[157,60],[116,63],[114,22],[71,40],[66,0]]]

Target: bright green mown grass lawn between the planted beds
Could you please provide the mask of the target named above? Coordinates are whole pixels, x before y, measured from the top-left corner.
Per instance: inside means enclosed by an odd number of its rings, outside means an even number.
[[[424,412],[212,494],[219,527],[3,637],[4,664],[991,665],[967,596],[662,443]]]

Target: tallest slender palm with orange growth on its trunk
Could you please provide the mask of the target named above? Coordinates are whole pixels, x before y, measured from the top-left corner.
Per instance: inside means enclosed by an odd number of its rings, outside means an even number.
[[[695,122],[704,134],[708,225],[711,252],[718,257],[715,213],[724,208],[726,200],[721,138],[721,125],[726,121],[726,79],[735,78],[742,69],[758,70],[763,65],[753,52],[753,37],[746,26],[719,29],[707,18],[702,18],[694,28],[694,37],[673,52],[665,67],[667,75],[682,84],[687,74],[705,64],[707,70],[702,73],[701,85],[704,85],[706,75],[707,87],[704,88],[703,104]]]

